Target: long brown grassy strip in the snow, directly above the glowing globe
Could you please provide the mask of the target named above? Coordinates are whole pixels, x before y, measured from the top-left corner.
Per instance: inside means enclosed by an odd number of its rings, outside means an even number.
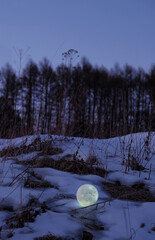
[[[56,170],[71,172],[80,175],[98,175],[104,177],[108,172],[104,168],[88,166],[83,160],[54,160],[53,158],[43,158],[41,160],[32,159],[20,161],[20,164],[30,164],[34,168],[54,168]]]

